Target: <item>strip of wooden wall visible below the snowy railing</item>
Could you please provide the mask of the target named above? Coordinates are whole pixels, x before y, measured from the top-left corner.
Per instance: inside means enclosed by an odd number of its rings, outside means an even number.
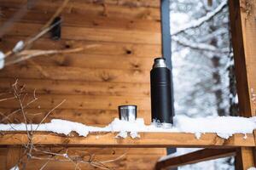
[[[16,147],[17,148],[17,147]],[[9,148],[11,150],[16,149],[14,146],[13,148]],[[37,147],[38,150],[49,150],[49,147]],[[63,148],[60,147],[50,147],[51,152],[59,152],[60,150],[63,150]],[[6,168],[7,163],[7,155],[8,155],[8,149],[7,148],[0,148],[0,167],[1,170],[5,170],[9,168]],[[63,153],[65,153],[66,149],[64,148]],[[137,153],[140,153],[140,156],[137,156]],[[137,165],[141,165],[143,169],[147,169],[146,166],[148,166],[148,169],[153,169],[154,167],[154,161],[158,160],[160,156],[163,154],[166,154],[165,151],[163,151],[160,148],[101,148],[100,150],[98,148],[82,148],[82,147],[70,147],[68,148],[68,154],[69,156],[80,156],[84,153],[94,155],[93,159],[95,161],[110,161],[109,163],[105,163],[106,166],[112,167],[112,168],[118,168],[118,169],[136,169]],[[40,156],[40,154],[32,152],[32,156]],[[41,155],[42,156],[42,155]],[[120,157],[120,158],[119,158]],[[24,157],[23,157],[24,158]],[[86,160],[85,157],[84,159]],[[119,158],[119,159],[117,159]],[[14,159],[14,158],[13,158]],[[25,156],[26,159],[26,156]],[[115,160],[116,161],[111,161]],[[133,163],[132,163],[133,162]],[[134,162],[136,164],[134,165]],[[150,163],[148,163],[150,162]],[[16,163],[16,162],[15,162]],[[45,161],[39,161],[39,160],[26,160],[26,169],[40,169],[44,165]],[[13,164],[13,167],[15,164]],[[3,168],[2,168],[3,167]],[[70,162],[59,162],[59,161],[49,161],[47,166],[44,169],[73,169],[73,163]],[[96,169],[89,164],[85,164],[81,166],[81,169]]]

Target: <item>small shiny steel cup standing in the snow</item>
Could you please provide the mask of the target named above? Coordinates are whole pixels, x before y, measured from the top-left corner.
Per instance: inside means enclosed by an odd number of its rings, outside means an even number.
[[[134,122],[137,118],[137,105],[119,105],[119,120]]]

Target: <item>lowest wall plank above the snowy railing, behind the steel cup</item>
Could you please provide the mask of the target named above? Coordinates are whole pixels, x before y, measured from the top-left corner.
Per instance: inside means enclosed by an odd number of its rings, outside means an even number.
[[[26,109],[26,118],[29,122],[39,123],[43,120],[44,116],[49,112],[50,109]],[[15,109],[3,109],[0,108],[3,115],[8,116],[9,119],[0,116],[1,123],[20,123],[24,122],[24,117],[20,112],[10,115]],[[10,116],[9,116],[10,115]],[[105,127],[110,122],[113,122],[114,118],[117,118],[118,110],[89,110],[89,109],[56,109],[52,111],[44,122],[50,122],[52,119],[63,119],[73,122],[81,122],[90,126]],[[151,123],[150,111],[143,111],[138,108],[137,117],[142,117],[145,124]]]

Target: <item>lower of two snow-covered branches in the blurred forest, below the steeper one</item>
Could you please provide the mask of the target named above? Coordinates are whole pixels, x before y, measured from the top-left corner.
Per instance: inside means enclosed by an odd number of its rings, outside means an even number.
[[[230,53],[230,48],[216,48],[215,46],[212,46],[207,43],[191,42],[185,37],[173,36],[172,40],[177,42],[178,44],[180,44],[184,47],[188,47],[188,48],[210,51],[210,52],[217,53],[217,54]]]

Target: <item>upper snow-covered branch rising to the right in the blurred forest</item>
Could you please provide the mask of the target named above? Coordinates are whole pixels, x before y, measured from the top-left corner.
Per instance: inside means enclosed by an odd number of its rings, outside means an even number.
[[[183,31],[187,31],[191,28],[196,28],[198,26],[201,26],[204,22],[206,22],[207,20],[211,20],[212,17],[214,17],[216,14],[218,14],[219,12],[222,11],[222,9],[224,7],[227,6],[228,1],[224,0],[222,3],[220,3],[218,5],[217,8],[215,8],[212,12],[207,13],[205,16],[201,17],[200,19],[197,20],[192,20],[191,22],[189,22],[187,25],[182,26],[181,28],[178,28],[177,31],[172,32],[172,36],[175,36]]]

